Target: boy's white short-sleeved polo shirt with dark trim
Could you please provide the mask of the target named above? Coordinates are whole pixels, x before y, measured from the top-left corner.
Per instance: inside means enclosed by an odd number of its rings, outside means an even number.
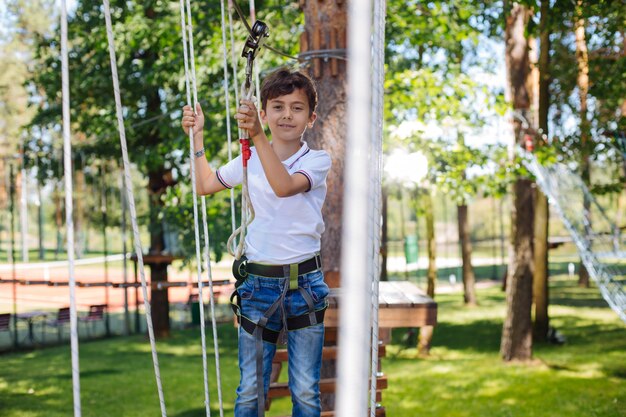
[[[279,198],[270,186],[255,147],[248,161],[248,191],[255,217],[246,235],[246,257],[252,262],[283,265],[304,261],[320,250],[324,232],[322,205],[326,198],[326,175],[331,159],[326,151],[300,149],[283,165],[290,175],[296,172],[309,180],[308,191]],[[243,181],[241,155],[217,171],[226,188]]]

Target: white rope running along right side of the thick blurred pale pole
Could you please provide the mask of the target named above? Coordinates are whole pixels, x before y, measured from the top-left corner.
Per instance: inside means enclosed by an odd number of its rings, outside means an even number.
[[[385,82],[385,0],[374,0],[374,94],[372,95],[372,132],[371,157],[374,169],[371,175],[371,193],[374,204],[371,207],[373,218],[370,219],[370,248],[372,250],[368,264],[372,281],[372,365],[370,375],[370,416],[376,416],[376,377],[378,376],[378,307],[380,282],[380,229],[381,229],[381,183],[382,183],[382,144],[383,144],[383,95]]]

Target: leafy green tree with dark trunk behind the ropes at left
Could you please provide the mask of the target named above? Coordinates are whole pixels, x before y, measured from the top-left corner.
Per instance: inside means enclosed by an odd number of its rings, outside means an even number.
[[[290,13],[297,12],[294,7],[283,7],[277,2],[263,2],[260,6],[263,7],[259,10],[267,12],[267,16],[280,9],[288,25],[298,22],[297,17],[289,18]],[[199,98],[207,116],[205,147],[207,154],[214,156],[212,162],[215,165],[223,162],[226,156],[220,10],[218,3],[195,3],[193,7],[197,28],[195,50]],[[174,201],[189,202],[189,199],[179,199],[176,193],[168,193],[169,187],[186,182],[188,176],[188,138],[179,123],[180,109],[185,103],[180,13],[173,3],[153,0],[141,3],[114,1],[111,11],[131,160],[147,178],[145,187],[150,199],[148,255],[154,259],[166,249],[166,207]],[[259,17],[263,16],[260,14]],[[272,26],[276,22],[269,23]],[[241,35],[240,41],[243,42],[247,34],[241,28],[237,24],[236,33]],[[75,149],[88,161],[117,159],[121,152],[100,2],[79,2],[70,18],[69,31]],[[276,30],[278,34],[287,32]],[[39,65],[33,82],[45,103],[34,123],[54,129],[60,113],[58,36],[40,36],[37,46]],[[276,62],[276,58],[270,56],[264,64],[272,62]],[[76,137],[84,137],[84,141],[77,144]],[[168,196],[171,197],[169,201]],[[217,207],[223,207],[223,198],[209,199],[209,204],[218,201]],[[169,210],[167,220],[182,221],[184,214],[189,212],[188,206],[179,207],[178,214],[181,215],[174,213],[175,210]],[[226,231],[230,222],[227,216],[220,215],[212,219],[212,224],[213,231]],[[185,226],[185,229],[189,228]],[[151,280],[166,280],[167,262],[151,263],[147,259]],[[155,331],[165,336],[169,333],[167,290],[153,291],[152,301]]]

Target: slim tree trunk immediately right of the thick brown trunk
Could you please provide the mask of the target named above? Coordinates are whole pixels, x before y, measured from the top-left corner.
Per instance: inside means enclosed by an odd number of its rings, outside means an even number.
[[[550,32],[548,30],[548,16],[550,15],[550,3],[547,0],[541,2],[541,46],[539,55],[539,128],[542,138],[537,138],[537,147],[544,146],[543,137],[548,136],[548,109],[550,106]],[[535,242],[534,242],[534,277],[533,277],[533,301],[535,305],[535,321],[533,325],[533,337],[536,341],[545,341],[548,337],[550,319],[548,316],[548,237],[549,237],[550,211],[548,198],[537,189],[535,200]]]

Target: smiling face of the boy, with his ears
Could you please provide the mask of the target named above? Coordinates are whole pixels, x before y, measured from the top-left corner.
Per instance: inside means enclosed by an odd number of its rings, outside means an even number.
[[[261,110],[261,120],[267,123],[272,132],[272,140],[300,141],[307,127],[313,127],[317,118],[309,116],[309,102],[301,89],[267,100],[265,110]]]

